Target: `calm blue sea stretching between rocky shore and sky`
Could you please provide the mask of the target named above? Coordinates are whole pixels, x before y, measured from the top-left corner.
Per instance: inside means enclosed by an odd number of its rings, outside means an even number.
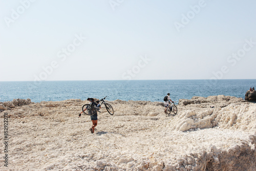
[[[161,101],[167,93],[173,101],[193,96],[225,95],[245,98],[256,79],[221,80],[102,80],[102,81],[0,81],[0,101],[32,102],[67,99]]]

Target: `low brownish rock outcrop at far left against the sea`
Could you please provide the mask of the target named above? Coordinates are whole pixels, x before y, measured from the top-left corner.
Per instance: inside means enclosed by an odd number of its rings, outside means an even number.
[[[4,101],[0,102],[0,110],[10,110],[16,106],[28,105],[30,103],[33,103],[30,99],[13,99],[12,101]]]

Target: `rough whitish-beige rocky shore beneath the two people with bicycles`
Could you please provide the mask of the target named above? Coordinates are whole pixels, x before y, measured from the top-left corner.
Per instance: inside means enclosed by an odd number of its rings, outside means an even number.
[[[256,104],[230,96],[163,102],[109,101],[94,134],[88,101],[0,102],[8,116],[8,167],[0,170],[256,170]],[[4,135],[4,129],[1,129]],[[0,136],[3,142],[4,137]],[[5,148],[1,143],[1,149]]]

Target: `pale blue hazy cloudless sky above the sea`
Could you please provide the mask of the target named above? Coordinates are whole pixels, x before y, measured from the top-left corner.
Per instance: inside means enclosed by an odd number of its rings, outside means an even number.
[[[0,81],[256,79],[255,7],[0,0]]]

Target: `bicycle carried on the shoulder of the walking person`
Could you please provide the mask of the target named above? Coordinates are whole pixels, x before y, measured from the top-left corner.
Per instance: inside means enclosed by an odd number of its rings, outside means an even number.
[[[82,106],[82,112],[86,115],[92,116],[96,114],[97,111],[100,112],[100,107],[101,107],[101,104],[103,103],[105,105],[106,111],[108,111],[109,114],[114,115],[114,110],[112,106],[109,103],[104,101],[105,98],[106,97],[99,100],[98,103],[94,102],[89,98],[90,104],[84,104]]]

